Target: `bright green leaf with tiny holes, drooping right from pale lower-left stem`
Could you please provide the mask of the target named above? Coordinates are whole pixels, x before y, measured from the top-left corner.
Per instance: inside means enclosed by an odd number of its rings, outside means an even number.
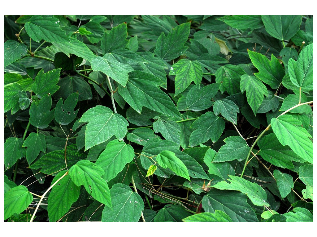
[[[98,202],[112,208],[110,190],[101,176],[105,172],[98,165],[82,160],[68,170],[68,174],[75,185],[84,185],[86,191]]]

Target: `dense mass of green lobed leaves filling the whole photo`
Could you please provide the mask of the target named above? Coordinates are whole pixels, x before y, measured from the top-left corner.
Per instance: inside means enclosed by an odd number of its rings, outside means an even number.
[[[313,16],[5,15],[4,221],[313,221]]]

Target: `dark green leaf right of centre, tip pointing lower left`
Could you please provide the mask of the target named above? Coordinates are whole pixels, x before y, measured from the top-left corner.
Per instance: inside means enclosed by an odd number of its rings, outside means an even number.
[[[215,116],[213,112],[204,113],[191,125],[191,129],[194,129],[194,131],[189,138],[189,146],[197,146],[199,143],[207,142],[209,139],[213,143],[217,142],[224,127],[223,119]]]

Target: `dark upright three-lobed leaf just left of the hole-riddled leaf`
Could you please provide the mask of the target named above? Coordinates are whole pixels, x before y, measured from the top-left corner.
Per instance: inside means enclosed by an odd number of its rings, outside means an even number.
[[[43,129],[49,126],[54,118],[54,109],[50,111],[52,106],[52,96],[43,96],[39,104],[32,103],[30,106],[30,124],[36,128]]]

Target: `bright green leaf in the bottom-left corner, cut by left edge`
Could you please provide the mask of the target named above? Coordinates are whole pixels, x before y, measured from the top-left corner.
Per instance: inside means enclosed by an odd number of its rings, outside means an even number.
[[[33,201],[33,196],[23,185],[11,188],[3,197],[3,220],[8,219],[14,213],[20,214]]]

